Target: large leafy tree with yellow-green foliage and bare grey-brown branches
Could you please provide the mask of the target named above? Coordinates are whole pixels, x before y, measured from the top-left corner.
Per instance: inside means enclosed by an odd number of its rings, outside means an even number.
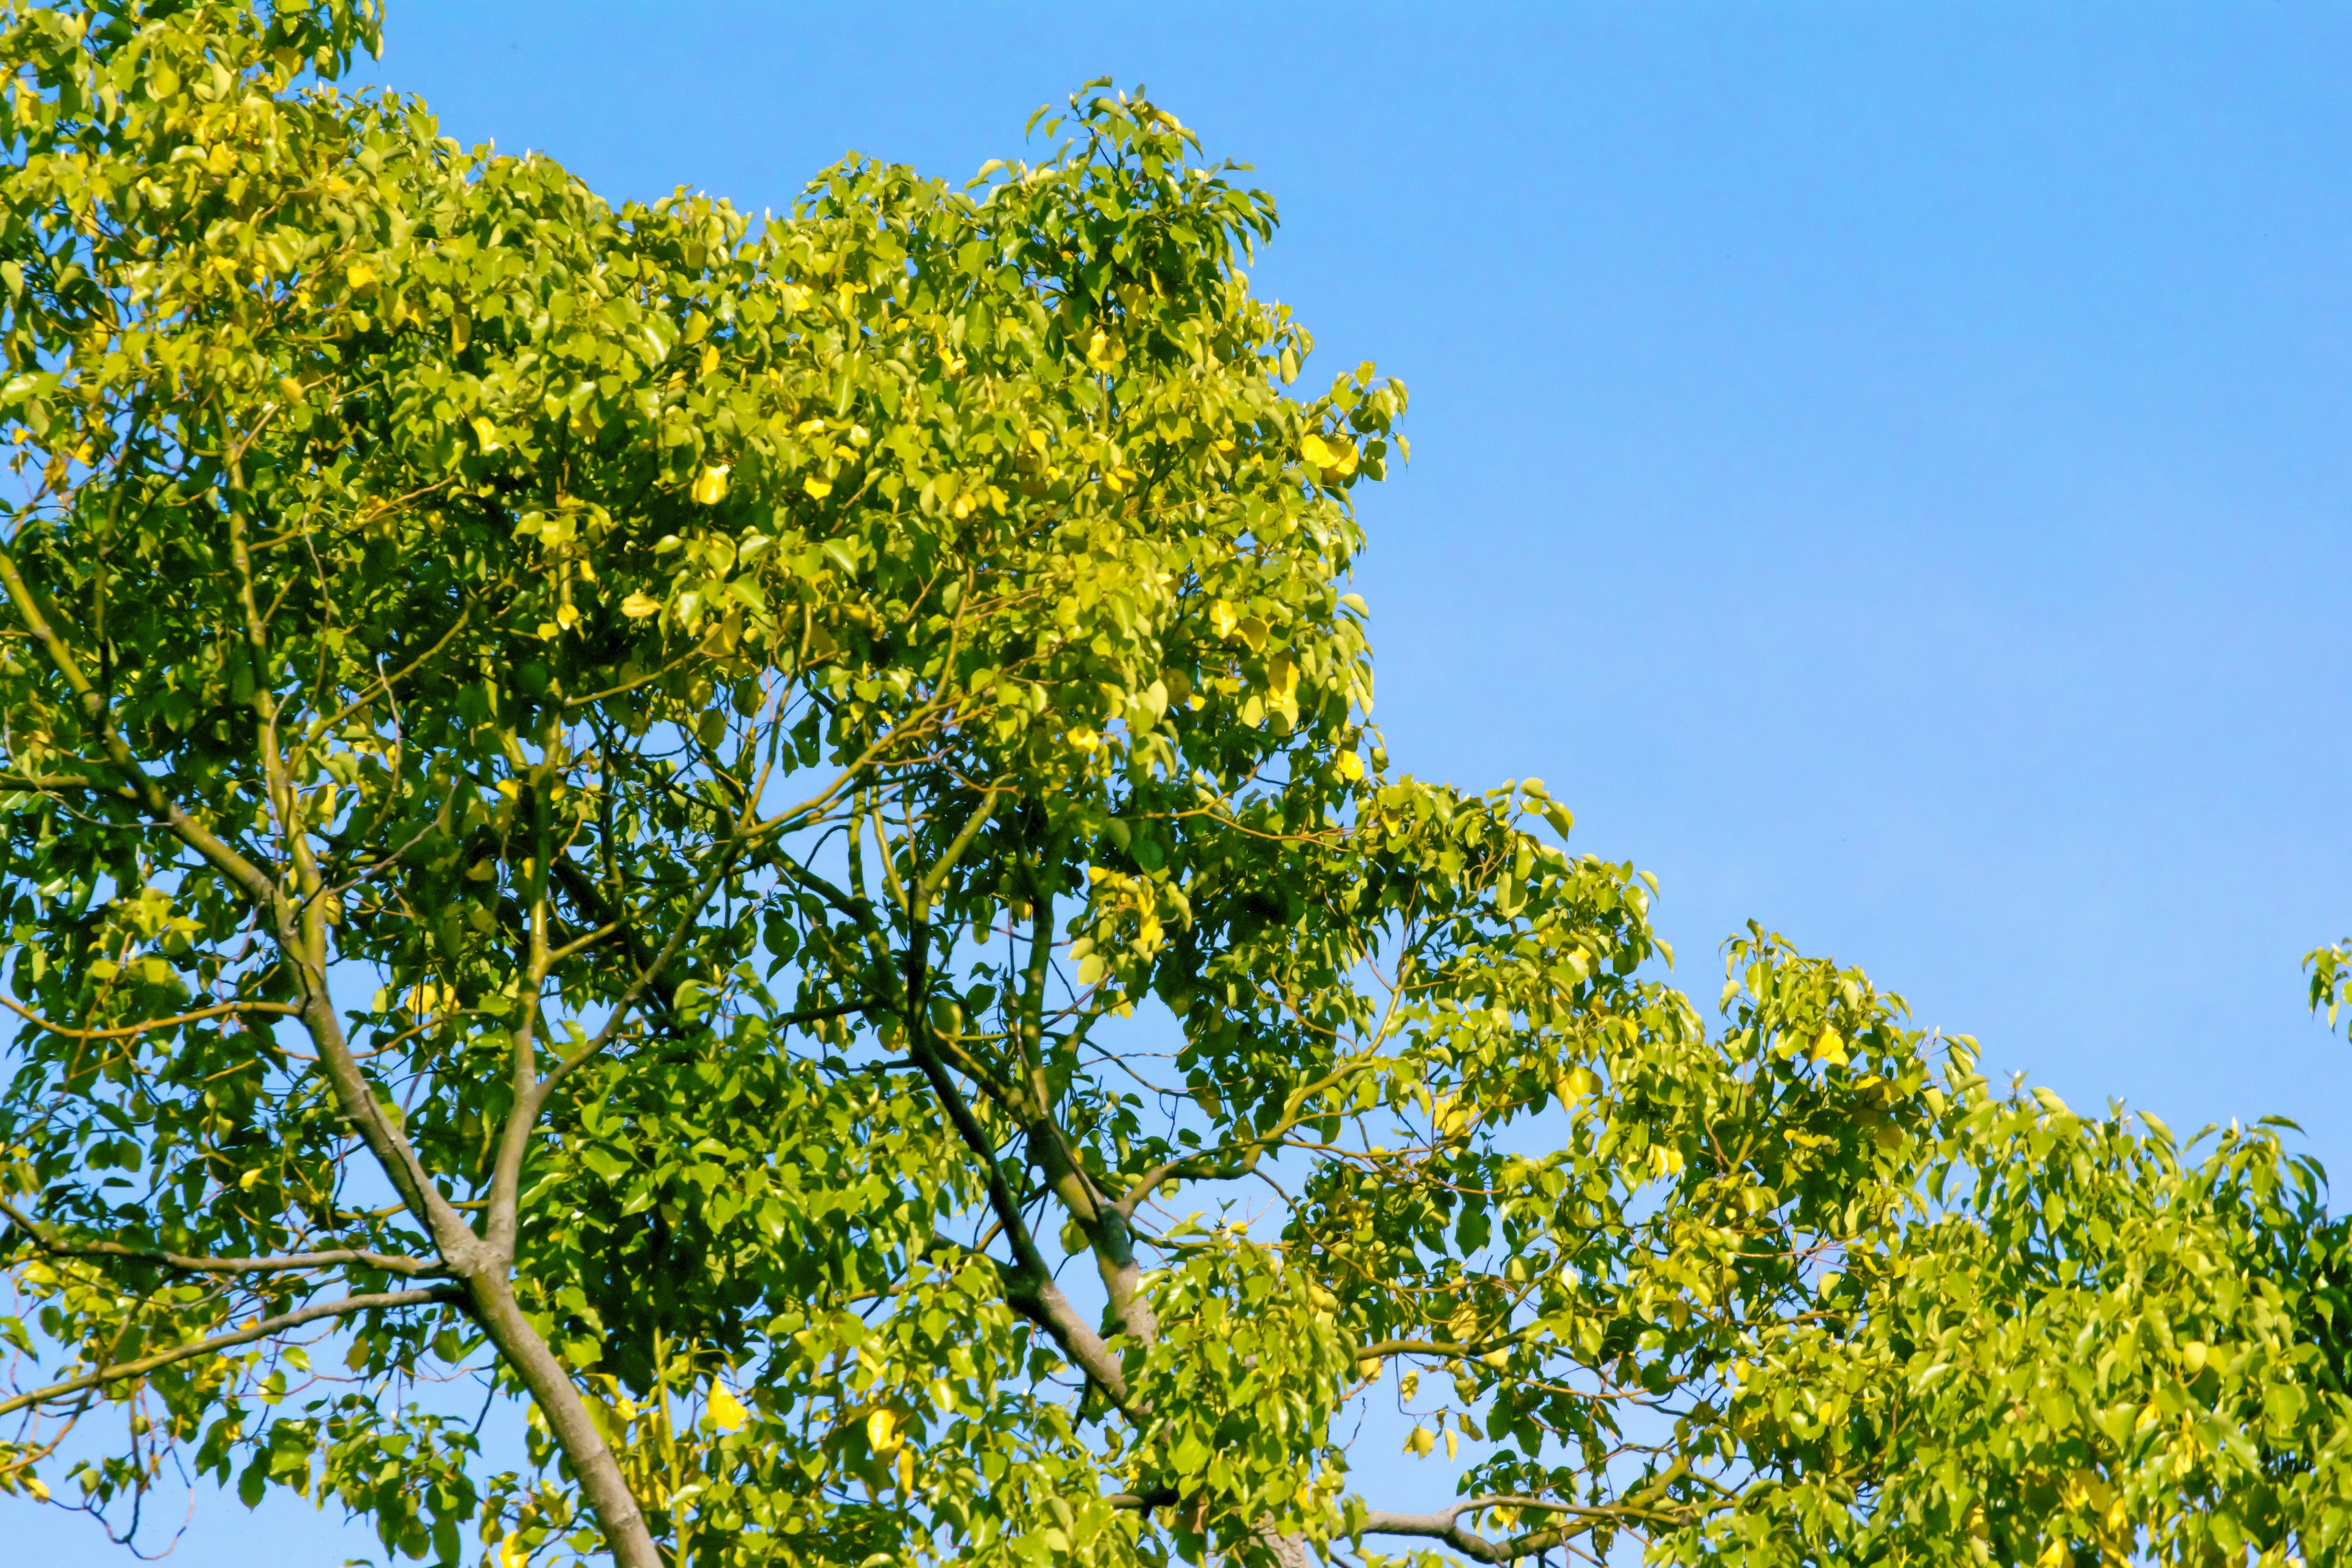
[[[1710,1030],[1538,783],[1388,769],[1404,390],[1284,390],[1167,110],[755,228],[303,85],[360,0],[0,19],[9,1488],[442,1563],[2336,1549],[2274,1133],[1994,1091],[1759,929]],[[1350,1490],[1374,1392],[1461,1497]]]

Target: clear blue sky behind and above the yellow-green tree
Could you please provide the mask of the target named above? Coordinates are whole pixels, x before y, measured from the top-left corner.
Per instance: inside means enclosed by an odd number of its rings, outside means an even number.
[[[2352,9],[393,0],[386,40],[466,143],[755,212],[1148,85],[1277,197],[1303,383],[1411,388],[1357,491],[1397,766],[1541,776],[1703,999],[1757,919],[1994,1074],[2352,1168],[2298,971],[2352,931]],[[1374,1502],[1451,1493],[1374,1446]],[[172,1561],[369,1544],[207,1497]]]

